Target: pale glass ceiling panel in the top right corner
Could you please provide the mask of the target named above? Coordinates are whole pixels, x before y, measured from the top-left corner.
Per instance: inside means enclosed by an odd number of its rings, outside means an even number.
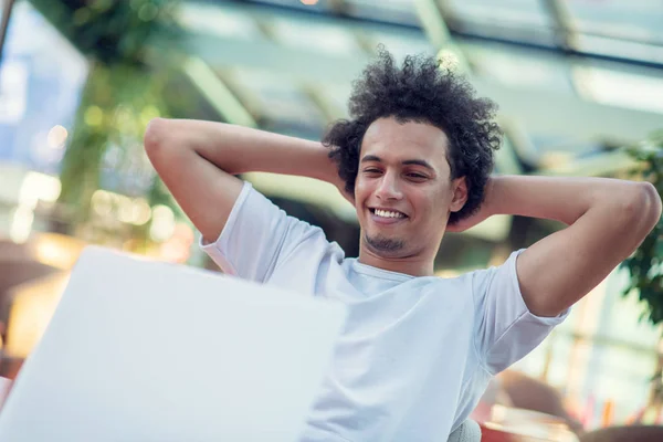
[[[565,0],[580,32],[663,44],[661,0]]]

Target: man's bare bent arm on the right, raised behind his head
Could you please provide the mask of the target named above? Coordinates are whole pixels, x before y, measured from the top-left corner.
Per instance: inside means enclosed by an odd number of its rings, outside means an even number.
[[[559,315],[596,287],[661,217],[661,199],[652,185],[607,178],[495,177],[484,204],[481,211],[490,214],[568,225],[517,259],[525,304],[544,317]]]

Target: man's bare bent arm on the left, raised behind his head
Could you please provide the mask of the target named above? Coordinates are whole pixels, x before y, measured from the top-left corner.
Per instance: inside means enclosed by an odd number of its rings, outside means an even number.
[[[152,119],[147,155],[185,213],[214,241],[240,196],[234,175],[257,171],[316,178],[343,188],[320,143],[222,123]]]

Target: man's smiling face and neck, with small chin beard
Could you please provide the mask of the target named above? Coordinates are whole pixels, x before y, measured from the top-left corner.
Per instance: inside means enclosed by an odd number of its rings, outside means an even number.
[[[451,179],[448,148],[444,131],[430,124],[389,117],[369,126],[355,186],[360,262],[432,273],[449,213],[467,193],[464,178]]]

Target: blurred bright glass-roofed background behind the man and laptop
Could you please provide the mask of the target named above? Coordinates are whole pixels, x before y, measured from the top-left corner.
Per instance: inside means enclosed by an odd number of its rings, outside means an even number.
[[[499,104],[496,172],[663,189],[661,0],[0,4],[1,376],[39,340],[86,244],[214,269],[144,154],[150,118],[319,139],[346,116],[351,81],[380,43],[401,59],[440,56]],[[357,255],[354,209],[334,188],[244,178]],[[501,217],[449,234],[440,275],[499,264],[559,228]],[[663,419],[662,230],[514,367],[586,429]]]

